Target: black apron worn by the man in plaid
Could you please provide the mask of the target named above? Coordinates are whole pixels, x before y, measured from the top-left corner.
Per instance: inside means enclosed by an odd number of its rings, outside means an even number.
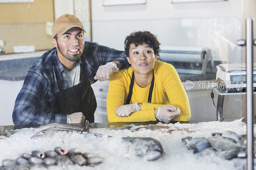
[[[60,92],[55,93],[50,102],[41,102],[37,109],[47,113],[65,115],[82,112],[86,120],[90,123],[94,122],[94,112],[97,107],[97,102],[91,84],[86,80],[84,64],[80,64],[80,68],[82,70],[80,73],[81,83],[65,90],[63,89],[60,76],[54,62],[53,67]]]

